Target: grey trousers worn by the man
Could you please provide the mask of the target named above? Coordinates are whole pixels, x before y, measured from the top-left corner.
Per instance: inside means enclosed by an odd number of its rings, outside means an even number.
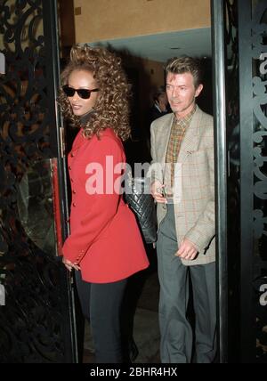
[[[184,266],[179,257],[174,223],[174,206],[168,205],[158,231],[158,278],[160,283],[160,353],[164,363],[189,363],[193,334],[187,320],[189,276],[196,317],[195,352],[197,363],[210,363],[216,354],[215,263]]]

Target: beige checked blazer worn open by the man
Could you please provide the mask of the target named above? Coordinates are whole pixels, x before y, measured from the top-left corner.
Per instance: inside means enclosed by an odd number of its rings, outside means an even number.
[[[151,125],[151,182],[158,179],[170,186],[166,175],[166,150],[174,114],[156,119]],[[160,165],[156,165],[159,163]],[[193,261],[182,259],[185,265],[212,263],[215,260],[214,216],[214,123],[213,118],[197,107],[187,128],[177,163],[181,166],[181,197],[174,202],[175,228],[178,245],[189,239],[197,248]],[[166,215],[166,205],[158,204],[158,227]]]

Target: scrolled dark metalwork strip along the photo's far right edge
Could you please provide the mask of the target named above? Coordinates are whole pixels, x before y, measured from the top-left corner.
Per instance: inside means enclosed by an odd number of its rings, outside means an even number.
[[[256,361],[267,362],[267,4],[252,2]]]

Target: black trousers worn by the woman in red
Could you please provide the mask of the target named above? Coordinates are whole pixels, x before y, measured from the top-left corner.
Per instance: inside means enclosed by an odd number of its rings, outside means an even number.
[[[76,272],[77,292],[85,319],[90,322],[95,361],[123,362],[121,342],[121,304],[127,280],[88,283]]]

